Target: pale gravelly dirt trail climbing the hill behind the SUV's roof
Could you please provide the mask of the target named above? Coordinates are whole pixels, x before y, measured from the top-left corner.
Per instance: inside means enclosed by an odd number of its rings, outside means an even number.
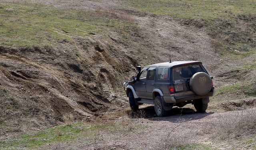
[[[159,62],[168,60],[169,56],[172,61],[198,60],[208,70],[220,63],[204,28],[182,26],[167,16],[149,15],[136,20],[143,39],[152,44],[151,54],[156,54]]]

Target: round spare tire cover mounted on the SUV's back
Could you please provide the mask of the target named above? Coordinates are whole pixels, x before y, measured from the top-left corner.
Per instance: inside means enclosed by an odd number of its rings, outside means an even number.
[[[197,95],[205,95],[212,88],[211,77],[204,72],[197,72],[190,78],[190,88]]]

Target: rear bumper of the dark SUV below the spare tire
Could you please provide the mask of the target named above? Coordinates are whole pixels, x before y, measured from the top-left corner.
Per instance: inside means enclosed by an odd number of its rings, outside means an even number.
[[[209,92],[208,94],[203,95],[203,96],[192,95],[192,96],[185,96],[185,97],[180,97],[180,98],[175,98],[174,96],[163,96],[163,98],[164,98],[164,102],[166,102],[166,103],[178,103],[178,102],[185,102],[188,100],[207,98],[207,97],[210,97],[213,95],[214,95],[214,89],[211,92]]]

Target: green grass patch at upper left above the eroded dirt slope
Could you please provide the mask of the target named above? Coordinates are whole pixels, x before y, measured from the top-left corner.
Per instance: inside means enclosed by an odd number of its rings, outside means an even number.
[[[61,40],[72,41],[90,33],[130,32],[134,24],[106,16],[106,13],[60,9],[29,2],[1,2],[0,45],[54,46]]]

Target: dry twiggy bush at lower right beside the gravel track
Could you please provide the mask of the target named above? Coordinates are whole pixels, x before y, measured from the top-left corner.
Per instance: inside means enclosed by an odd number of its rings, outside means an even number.
[[[228,117],[219,116],[218,126],[214,127],[212,138],[230,139],[256,133],[256,111],[242,110]]]

